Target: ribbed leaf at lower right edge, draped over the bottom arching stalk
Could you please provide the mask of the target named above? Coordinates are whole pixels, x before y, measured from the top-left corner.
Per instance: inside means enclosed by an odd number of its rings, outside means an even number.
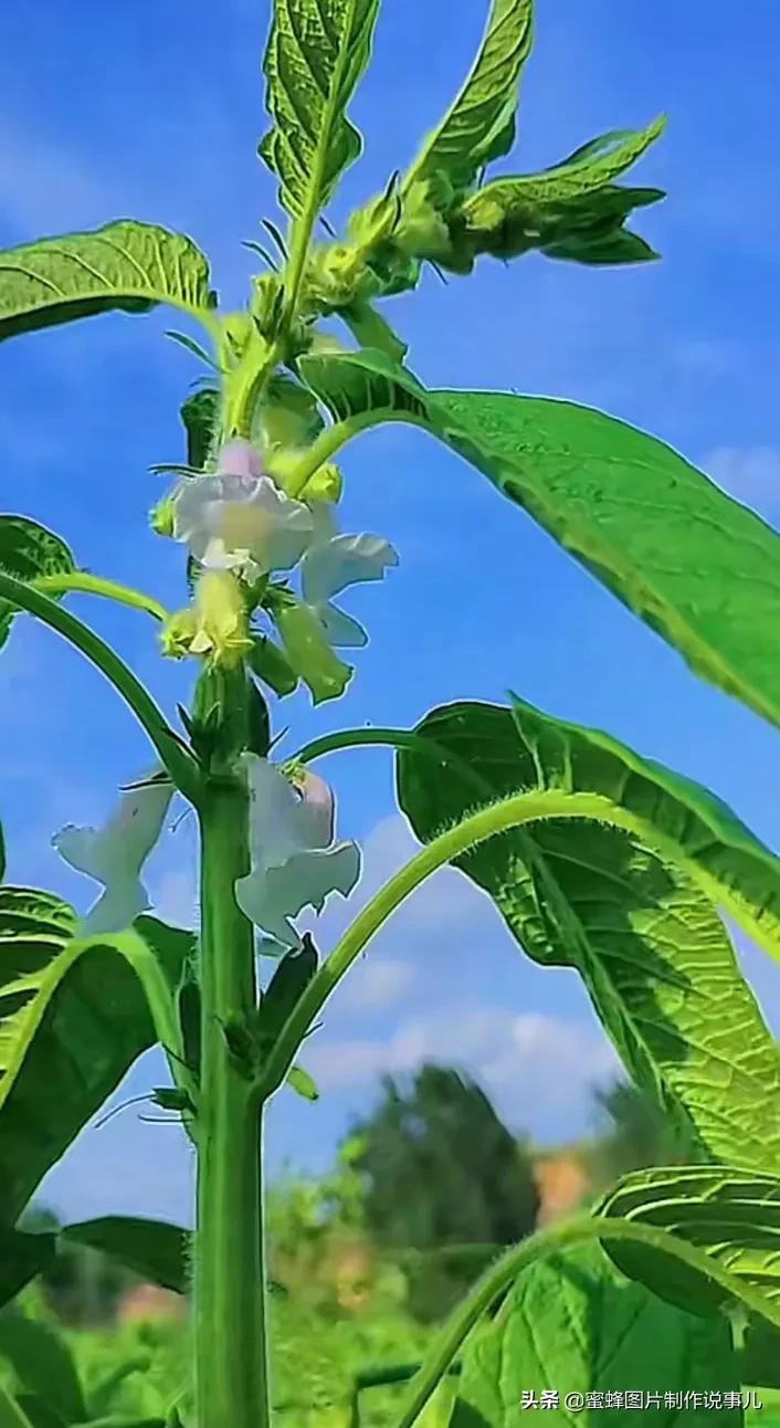
[[[654,1167],[624,1175],[596,1214],[657,1225],[706,1250],[729,1274],[759,1289],[780,1327],[780,1178],[730,1165]],[[604,1241],[623,1274],[669,1304],[711,1314],[724,1289],[680,1259],[636,1241]]]

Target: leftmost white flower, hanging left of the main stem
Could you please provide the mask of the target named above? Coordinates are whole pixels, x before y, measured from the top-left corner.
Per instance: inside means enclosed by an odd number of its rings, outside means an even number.
[[[144,775],[154,778],[159,770]],[[51,843],[61,858],[101,883],[104,891],[81,921],[79,934],[123,932],[149,908],[140,871],[160,837],[173,798],[170,783],[146,783],[121,794],[103,828],[69,824]]]

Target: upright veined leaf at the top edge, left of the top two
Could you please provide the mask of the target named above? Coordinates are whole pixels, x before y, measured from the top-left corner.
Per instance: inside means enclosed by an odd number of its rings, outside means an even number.
[[[274,0],[266,50],[273,127],[260,157],[280,180],[280,203],[310,231],[361,140],[346,117],[369,63],[379,0]]]

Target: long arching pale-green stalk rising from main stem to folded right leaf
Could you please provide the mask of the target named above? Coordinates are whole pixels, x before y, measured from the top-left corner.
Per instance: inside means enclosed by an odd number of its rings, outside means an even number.
[[[439,834],[416,854],[357,914],[340,942],[334,947],[317,975],[309,982],[303,997],[284,1022],[269,1055],[260,1094],[271,1095],[284,1081],[293,1058],[309,1030],[321,1012],[327,998],[350,970],[351,964],[383,922],[400,904],[439,868],[453,863],[479,843],[510,828],[543,818],[596,818],[630,833],[646,834],[644,824],[629,810],[620,808],[601,794],[566,793],[561,788],[541,788],[517,794],[480,808],[463,823]]]

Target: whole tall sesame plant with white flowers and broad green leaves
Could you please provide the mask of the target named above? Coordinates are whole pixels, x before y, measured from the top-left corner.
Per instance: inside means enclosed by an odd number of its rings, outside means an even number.
[[[399,560],[380,536],[339,526],[340,453],[387,421],[470,463],[697,675],[780,724],[776,534],[661,441],[600,411],[430,390],[386,316],[426,266],[464,280],[480,260],[531,250],[580,264],[654,258],[626,224],[663,194],[617,180],[661,121],[603,134],[541,173],[490,177],[514,141],[531,44],[531,0],[493,0],[474,66],[410,167],[323,237],[319,220],[361,149],[347,110],[377,9],[273,3],[259,153],[286,231],[266,223],[274,251],[251,244],[263,268],[243,310],[220,310],[203,253],[163,227],[123,220],[0,253],[1,338],[169,304],[200,328],[181,341],[207,366],[181,408],[186,461],[167,468],[151,514],[181,568],[179,611],[80,568],[34,521],[0,518],[3,637],[26,613],[70,641],[150,743],[149,770],[104,827],[56,835],[66,863],[100,884],[84,917],[46,891],[0,890],[0,1297],[11,1301],[56,1252],[56,1235],[19,1228],[43,1175],[159,1045],[170,1084],[154,1098],[194,1147],[194,1234],[110,1215],[59,1234],[191,1294],[191,1382],[160,1405],[160,1424],[267,1428],[264,1110],[286,1084],[316,1094],[299,1054],[330,997],[404,898],[454,864],[526,955],[579,971],[691,1164],[631,1174],[496,1261],[434,1339],[399,1428],[453,1364],[457,1428],[513,1424],[553,1391],[564,1415],[564,1394],[587,1412],[647,1391],[666,1422],[737,1422],[744,1385],[780,1377],[780,1060],[719,914],[780,957],[774,855],[704,788],[521,697],[470,703],[466,688],[413,730],[344,728],[277,750],[280,703],[299,685],[314,704],[347,691],[343,653],[367,635],[341,595]],[[321,328],[333,318],[343,344]],[[163,713],[70,613],[73,591],[153,620],[160,655],[191,671],[189,707]],[[360,851],[337,837],[314,765],[366,744],[394,751],[420,851],[323,958],[300,915],[351,892]],[[174,798],[200,831],[197,935],[154,918],[140,881]],[[19,1348],[14,1312],[0,1335],[16,1374],[0,1394],[3,1428],[110,1421],[107,1389],[90,1399],[61,1362],[43,1374],[39,1351]]]

